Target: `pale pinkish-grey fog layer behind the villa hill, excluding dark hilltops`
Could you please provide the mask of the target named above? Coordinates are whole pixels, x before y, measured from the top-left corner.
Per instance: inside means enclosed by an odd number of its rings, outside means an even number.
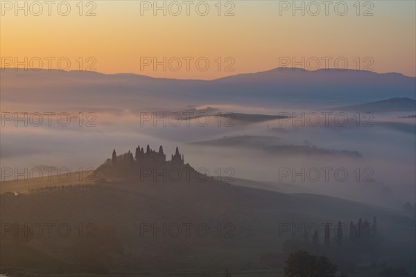
[[[270,109],[239,106],[220,108],[223,114],[231,111],[278,114]],[[279,111],[285,112],[285,109]],[[300,116],[305,111],[289,112]],[[306,114],[311,112],[306,111]],[[36,166],[50,165],[86,170],[96,168],[110,158],[113,149],[122,154],[128,150],[134,152],[137,145],[146,148],[149,144],[155,150],[158,150],[159,145],[164,145],[166,157],[170,159],[175,147],[179,146],[186,162],[196,169],[207,170],[211,176],[232,175],[235,178],[268,182],[277,190],[283,186],[286,190],[293,186],[296,192],[333,195],[381,206],[399,207],[406,201],[415,202],[416,137],[415,134],[376,124],[377,121],[396,120],[391,116],[374,116],[370,122],[374,123],[373,126],[363,126],[365,120],[357,124],[352,118],[349,118],[347,125],[341,126],[340,122],[333,121],[333,117],[327,118],[329,124],[326,125],[321,117],[321,124],[313,127],[307,120],[302,126],[302,121],[293,122],[287,118],[252,124],[234,120],[231,125],[225,126],[224,118],[218,121],[216,116],[182,119],[178,125],[174,117],[170,120],[146,117],[144,120],[143,114],[140,117],[137,112],[130,111],[95,111],[94,114],[96,118],[89,127],[85,126],[85,120],[80,126],[79,118],[75,118],[67,127],[56,123],[50,127],[25,127],[20,123],[15,127],[13,120],[2,122],[1,168],[17,168],[16,172],[23,172],[23,168],[30,170]],[[242,135],[276,136],[286,145],[315,145],[316,148],[358,151],[363,158],[315,155],[288,157],[254,148],[214,148],[187,144]],[[232,168],[232,171],[227,168]],[[306,172],[317,168],[321,176],[318,181],[311,181],[308,177],[305,181],[302,181],[302,177],[293,180],[292,172],[289,176],[280,176],[284,168],[295,172],[302,172],[302,168]],[[321,168],[332,168],[328,181],[324,179]],[[334,177],[333,172],[337,168],[347,171],[347,181],[339,181]],[[363,181],[365,177],[370,182]]]

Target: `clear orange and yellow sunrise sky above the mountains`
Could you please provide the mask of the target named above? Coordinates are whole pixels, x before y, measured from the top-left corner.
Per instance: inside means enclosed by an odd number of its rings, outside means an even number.
[[[84,1],[82,10],[79,1],[56,1],[49,16],[44,1],[19,1],[21,10],[15,1],[1,1],[1,66],[42,61],[48,68],[50,60],[53,69],[213,79],[347,62],[349,69],[416,75],[415,1],[345,1],[344,16],[340,1],[327,11],[320,4],[315,16],[310,2],[303,2],[302,16],[286,5],[292,1],[158,1],[165,10],[155,10],[153,1]]]

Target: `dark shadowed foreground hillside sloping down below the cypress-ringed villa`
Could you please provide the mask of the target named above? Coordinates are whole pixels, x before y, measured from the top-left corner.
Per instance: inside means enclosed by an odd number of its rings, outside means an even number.
[[[261,257],[280,251],[293,238],[291,231],[279,234],[281,224],[295,223],[299,228],[302,223],[336,224],[373,216],[383,238],[380,261],[399,261],[413,270],[411,217],[333,197],[232,186],[189,165],[176,168],[188,172],[189,178],[164,180],[158,175],[154,179],[152,172],[142,180],[135,175],[107,177],[89,186],[1,194],[0,272],[222,276],[223,269],[230,267],[234,276],[279,276],[281,269],[263,265]],[[27,235],[22,231],[25,223]],[[51,226],[50,233],[46,226]],[[304,240],[299,232],[296,238]],[[368,260],[365,254],[359,257],[362,263]],[[80,272],[84,274],[76,274]]]

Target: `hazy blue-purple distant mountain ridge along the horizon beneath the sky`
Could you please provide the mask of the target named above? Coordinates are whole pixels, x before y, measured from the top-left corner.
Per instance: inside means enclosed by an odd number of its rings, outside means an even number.
[[[268,105],[351,105],[393,97],[415,98],[416,78],[400,73],[338,69],[307,71],[277,68],[216,80],[177,80],[88,71],[1,70],[2,100],[34,104],[137,109],[232,103]],[[37,91],[37,93],[33,93]],[[79,96],[79,97],[78,97]],[[29,98],[29,99],[28,99]],[[47,101],[46,101],[47,100]],[[64,103],[64,104],[63,104]]]

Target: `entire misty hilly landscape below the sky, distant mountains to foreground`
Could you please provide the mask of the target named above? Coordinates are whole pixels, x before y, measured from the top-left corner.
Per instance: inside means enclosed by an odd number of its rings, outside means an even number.
[[[274,71],[199,81],[6,70],[2,270],[220,276],[232,268],[236,276],[282,276],[286,257],[301,249],[329,256],[351,276],[389,267],[413,274],[415,78],[350,72],[365,86],[375,84],[349,98],[353,87],[322,89],[320,78],[339,85],[332,71],[315,78],[314,72],[283,72],[286,81],[303,78],[297,89],[317,83],[314,96],[287,98],[284,87],[268,86]],[[28,81],[18,83],[18,75]],[[264,91],[252,91],[258,82]],[[403,85],[392,91],[396,82]],[[241,98],[223,97],[224,84],[228,96]],[[30,105],[19,96],[25,89],[37,91],[28,96]],[[166,168],[191,177],[166,181],[153,171]],[[90,222],[82,229],[98,236],[16,239],[10,222]],[[161,222],[206,224],[211,233],[160,238],[153,224]],[[368,238],[338,239],[341,223],[349,234],[358,228]],[[319,234],[294,235],[302,224],[320,226]]]

